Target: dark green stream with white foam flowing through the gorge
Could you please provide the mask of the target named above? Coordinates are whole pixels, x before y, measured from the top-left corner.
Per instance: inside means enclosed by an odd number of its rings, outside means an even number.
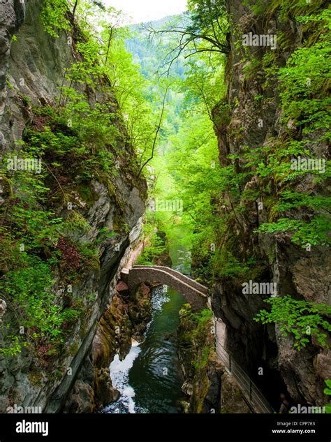
[[[175,270],[189,274],[191,255],[183,244],[170,247],[170,256]],[[120,361],[116,355],[110,364],[112,385],[121,397],[103,413],[181,413],[184,379],[176,334],[179,310],[185,302],[182,295],[167,286],[152,290],[152,320],[144,340],[139,344],[133,341],[126,358]]]

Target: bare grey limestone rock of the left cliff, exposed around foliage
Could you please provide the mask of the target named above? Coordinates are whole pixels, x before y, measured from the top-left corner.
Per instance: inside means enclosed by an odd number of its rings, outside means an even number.
[[[78,57],[73,44],[68,44],[65,33],[60,33],[59,38],[45,33],[40,21],[43,2],[30,0],[26,4],[25,10],[24,2],[19,0],[0,1],[0,156],[13,151],[15,141],[22,140],[27,127],[34,124],[36,128],[41,124],[33,106],[56,103],[64,69]],[[17,41],[11,44],[14,32]],[[92,105],[108,100],[111,102],[109,112],[116,113],[114,96],[107,96],[98,88],[89,88],[88,96]],[[135,153],[127,141],[118,113],[113,124],[122,133],[122,138],[117,140],[117,150],[113,152],[119,168],[118,173],[110,178],[111,186],[92,177],[86,190],[93,198],[88,201],[84,201],[75,184],[69,190],[76,210],[91,226],[88,233],[80,235],[80,242],[98,239],[98,263],[85,265],[84,276],[73,283],[73,302],[78,298],[83,300],[84,315],[67,336],[66,351],[58,360],[51,358],[49,364],[43,366],[24,349],[16,358],[0,360],[1,412],[6,413],[8,406],[19,404],[40,406],[45,413],[57,413],[63,408],[73,385],[73,395],[81,395],[87,404],[91,404],[84,410],[77,407],[74,411],[92,411],[94,386],[102,383],[102,374],[94,372],[89,351],[98,322],[112,302],[117,274],[140,233],[139,221],[145,212],[147,191],[145,180],[138,178],[138,174],[135,175],[126,164],[126,159],[135,160]],[[68,176],[69,182],[74,178]],[[64,204],[57,205],[54,210],[59,216],[67,215]],[[101,235],[102,229],[113,230],[116,234],[107,238]],[[59,276],[54,284],[59,304],[64,302],[66,283],[68,281]],[[92,294],[93,300],[91,297],[87,299],[87,295]],[[3,323],[14,327],[17,325],[15,311],[10,304],[7,307]],[[17,333],[17,330],[10,328],[7,333],[10,332]],[[75,383],[79,374],[87,383]]]

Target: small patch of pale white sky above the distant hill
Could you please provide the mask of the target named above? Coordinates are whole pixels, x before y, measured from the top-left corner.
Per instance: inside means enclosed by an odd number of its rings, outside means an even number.
[[[159,20],[186,10],[187,0],[103,0],[107,6],[123,10],[132,20],[128,23]]]

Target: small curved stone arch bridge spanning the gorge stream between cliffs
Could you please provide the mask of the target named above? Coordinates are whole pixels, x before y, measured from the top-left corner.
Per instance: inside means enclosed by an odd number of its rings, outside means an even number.
[[[208,308],[207,287],[170,267],[134,265],[131,269],[122,269],[121,277],[129,290],[135,290],[140,283],[145,281],[159,282],[181,293],[191,304],[193,311],[200,312]]]

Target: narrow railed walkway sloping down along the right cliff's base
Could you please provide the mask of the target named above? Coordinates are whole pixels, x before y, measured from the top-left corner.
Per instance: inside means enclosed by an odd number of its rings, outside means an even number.
[[[220,342],[216,342],[216,354],[228,369],[229,373],[233,374],[235,377],[240,390],[242,390],[245,399],[253,411],[257,413],[274,413],[274,410],[269,402],[267,402],[267,399],[265,399],[253,381],[251,381],[249,376],[244,372],[240,365],[235,362],[231,355],[228,354]]]

